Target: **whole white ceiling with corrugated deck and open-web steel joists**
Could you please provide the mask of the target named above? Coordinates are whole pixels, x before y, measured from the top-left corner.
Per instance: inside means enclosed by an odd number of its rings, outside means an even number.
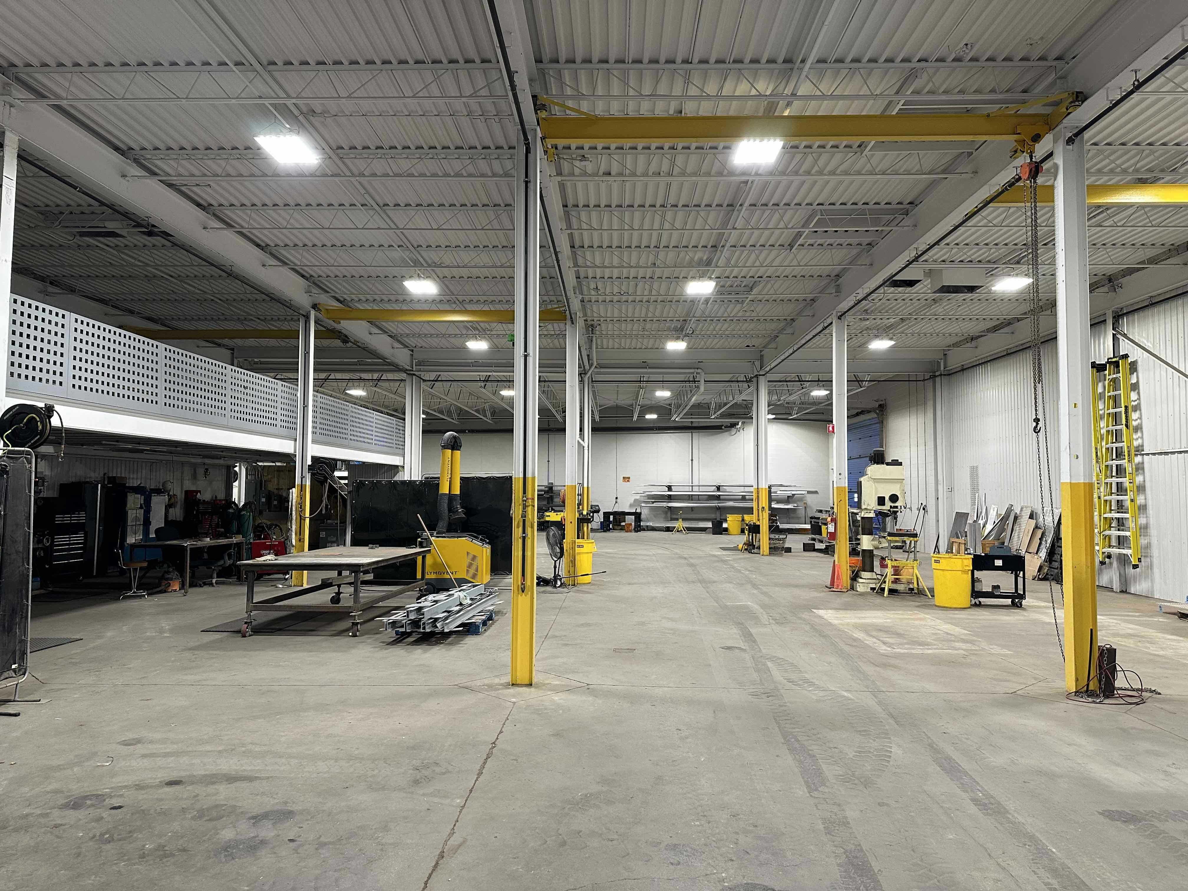
[[[1067,89],[1116,100],[1113,44],[1162,27],[1174,6],[1059,0],[1036,17],[1022,0],[122,0],[97,15],[78,0],[10,0],[0,67],[11,105],[80,125],[122,156],[129,183],[184,196],[208,229],[259,248],[264,266],[296,274],[315,299],[506,310],[518,126],[501,43],[518,42],[532,91],[556,115],[988,114]],[[1186,182],[1186,109],[1188,67],[1173,65],[1089,133],[1089,183]],[[282,165],[259,150],[254,137],[278,121],[299,128],[315,163]],[[829,345],[815,331],[858,293],[851,405],[861,407],[879,380],[979,361],[1024,336],[1026,292],[990,289],[1025,268],[1022,206],[994,204],[941,240],[918,284],[870,290],[937,220],[1009,177],[1009,148],[786,143],[757,171],[733,166],[727,144],[557,146],[546,184],[562,219],[542,236],[542,305],[576,304],[601,424],[646,413],[722,423],[750,413],[747,378],[772,356],[783,358],[771,367],[776,417],[823,417],[828,394],[810,393],[829,386]],[[131,327],[296,327],[290,304],[187,249],[168,220],[36,152],[18,177],[14,271],[49,298],[90,298]],[[1041,289],[1054,299],[1050,207],[1040,222]],[[1091,207],[1095,290],[1181,264],[1186,233],[1183,204]],[[941,292],[928,274],[940,270],[986,286]],[[440,293],[410,295],[410,278]],[[712,279],[714,292],[687,296],[693,279]],[[372,323],[392,353],[346,335],[318,341],[317,385],[365,390],[345,398],[402,413],[402,364],[385,356],[404,355],[425,379],[426,423],[506,426],[510,330]],[[481,356],[465,347],[475,337],[489,345]],[[687,349],[665,350],[682,339]],[[872,350],[874,339],[895,345]],[[296,373],[292,340],[182,345]],[[541,346],[541,413],[557,422],[563,326],[544,326]]]

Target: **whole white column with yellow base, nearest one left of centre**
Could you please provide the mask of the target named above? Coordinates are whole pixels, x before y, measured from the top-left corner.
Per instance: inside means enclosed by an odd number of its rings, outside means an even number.
[[[516,374],[512,426],[511,682],[531,684],[536,663],[536,461],[541,386],[541,139],[516,151]]]

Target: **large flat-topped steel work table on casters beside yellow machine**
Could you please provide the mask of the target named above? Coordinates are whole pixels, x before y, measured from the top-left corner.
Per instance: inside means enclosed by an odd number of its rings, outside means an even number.
[[[244,637],[252,634],[252,613],[254,612],[307,612],[307,613],[350,613],[350,637],[359,637],[359,625],[364,609],[383,604],[385,600],[399,596],[406,592],[421,587],[416,581],[411,584],[393,587],[380,594],[368,598],[360,596],[362,576],[375,571],[381,567],[403,563],[407,560],[416,560],[424,554],[429,554],[429,548],[320,548],[301,554],[284,554],[274,560],[247,560],[240,563],[240,568],[247,575],[247,615],[244,619],[244,627],[240,633]],[[263,600],[255,599],[255,576],[259,573],[293,573],[293,571],[328,571],[334,575],[323,577],[317,584],[310,584],[297,590],[287,590],[283,594],[274,594]],[[349,584],[352,588],[352,600],[342,604],[342,587]],[[327,588],[337,588],[339,593],[330,598],[329,604],[287,604],[293,598],[303,594],[312,594]]]

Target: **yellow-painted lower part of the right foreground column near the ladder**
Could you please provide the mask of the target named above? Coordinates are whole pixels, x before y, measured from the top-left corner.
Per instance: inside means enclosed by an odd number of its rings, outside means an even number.
[[[1093,546],[1093,484],[1061,482],[1064,587],[1064,688],[1098,689],[1098,558]]]

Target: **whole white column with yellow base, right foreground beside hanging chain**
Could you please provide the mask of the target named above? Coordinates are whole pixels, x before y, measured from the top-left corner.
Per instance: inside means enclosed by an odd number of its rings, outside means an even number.
[[[1098,563],[1093,546],[1093,403],[1089,364],[1085,139],[1053,133],[1056,166],[1056,346],[1060,381],[1060,504],[1064,588],[1064,684],[1098,689]]]

